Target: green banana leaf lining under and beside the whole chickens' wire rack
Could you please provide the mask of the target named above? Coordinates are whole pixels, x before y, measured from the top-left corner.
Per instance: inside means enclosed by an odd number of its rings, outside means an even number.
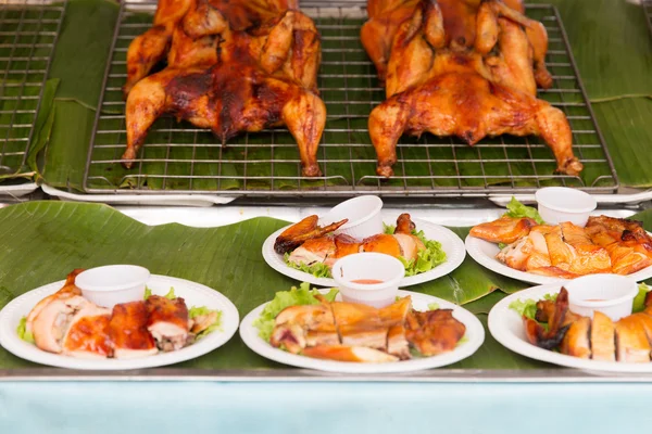
[[[626,2],[614,3],[611,0],[598,0],[588,2],[572,0],[537,1],[538,3],[553,3],[563,18],[568,39],[581,73],[590,98],[595,101],[604,101],[594,104],[598,122],[604,132],[606,142],[612,154],[615,167],[623,180],[623,184],[631,187],[652,186],[652,174],[649,170],[632,170],[631,167],[644,167],[645,145],[650,143],[652,126],[645,122],[644,115],[652,111],[652,101],[644,95],[652,93],[650,90],[652,73],[652,42],[648,35],[644,17],[640,8]],[[535,18],[546,15],[546,10],[531,9],[528,14]],[[70,188],[77,191],[84,190],[83,179],[90,143],[90,132],[95,117],[95,107],[101,90],[101,78],[106,61],[106,53],[111,42],[113,25],[117,16],[115,3],[106,0],[71,0],[66,21],[60,38],[60,43],[54,58],[52,77],[61,79],[61,88],[54,102],[57,112],[65,114],[55,116],[51,140],[46,148],[43,167],[45,182],[53,187]],[[149,22],[146,15],[131,15],[127,20],[131,23]],[[367,88],[375,85],[373,67],[359,65],[366,61],[362,52],[347,52],[343,54],[340,42],[334,40],[335,36],[346,36],[344,48],[359,48],[359,26],[361,20],[348,20],[351,28],[340,30],[334,28],[331,18],[317,20],[317,27],[324,38],[324,60],[330,62],[322,68],[321,85],[326,88]],[[137,29],[136,29],[137,30]],[[135,31],[134,29],[129,31]],[[343,31],[343,33],[342,33]],[[330,39],[329,39],[330,38]],[[551,34],[551,50],[562,50],[560,41],[561,34]],[[80,44],[79,40],[87,43]],[[126,48],[129,38],[120,39],[120,47]],[[334,46],[335,44],[335,46]],[[124,52],[118,55],[124,56]],[[560,54],[551,54],[553,63],[561,62]],[[339,62],[340,64],[334,64]],[[73,64],[74,67],[67,67]],[[89,67],[88,65],[91,65]],[[112,73],[124,72],[120,69]],[[551,66],[553,73],[568,75],[568,68]],[[343,73],[355,73],[360,77],[349,78],[344,82],[338,77]],[[111,86],[122,86],[121,79],[112,79]],[[83,85],[78,85],[83,84]],[[563,82],[560,86],[576,86]],[[179,143],[187,146],[167,149],[166,146],[146,148],[145,156],[161,156],[177,159],[177,163],[145,164],[142,169],[125,170],[118,164],[93,164],[90,169],[89,188],[98,190],[113,190],[115,188],[130,189],[143,188],[159,190],[306,190],[314,188],[348,188],[347,186],[359,182],[362,187],[377,187],[378,180],[374,177],[375,153],[369,144],[369,139],[364,129],[366,127],[366,115],[373,104],[341,104],[337,101],[381,101],[380,90],[363,91],[341,90],[323,91],[323,98],[327,103],[329,118],[324,133],[323,145],[319,151],[319,159],[326,161],[322,164],[325,169],[326,180],[304,181],[283,179],[293,178],[299,175],[298,154],[294,141],[287,131],[279,130],[269,133],[251,135],[248,138],[241,136],[229,141],[228,146],[220,146],[208,132],[185,133],[179,128],[186,124],[177,125],[170,118],[160,119],[150,135],[150,143],[165,143],[170,136]],[[643,95],[643,98],[629,98],[630,95]],[[118,95],[113,95],[113,101],[118,101]],[[574,102],[579,94],[566,94],[560,97],[555,93],[542,93],[541,98],[549,101]],[[625,98],[609,101],[613,98]],[[82,107],[72,107],[72,105]],[[104,106],[104,112],[114,113],[121,111],[122,105],[115,104]],[[581,115],[575,107],[567,107],[567,113]],[[614,113],[616,115],[614,115]],[[629,113],[632,116],[627,116]],[[354,116],[354,117],[351,117]],[[356,117],[355,117],[356,116]],[[576,129],[592,128],[590,122],[573,120]],[[121,126],[120,122],[110,122],[103,127],[112,129]],[[72,127],[74,126],[74,127]],[[101,125],[102,127],[102,125]],[[171,129],[171,132],[156,132],[155,128]],[[361,131],[362,130],[362,131]],[[634,137],[634,140],[632,140]],[[399,152],[402,158],[409,161],[404,165],[397,165],[397,175],[423,175],[428,178],[412,179],[410,186],[414,188],[429,189],[435,187],[457,187],[459,181],[453,178],[456,170],[467,177],[461,182],[462,187],[482,188],[485,182],[489,186],[504,184],[505,182],[505,157],[528,158],[529,153],[539,161],[532,164],[512,163],[511,171],[514,177],[532,175],[534,173],[547,177],[552,174],[554,165],[550,162],[551,153],[541,141],[530,140],[530,148],[510,146],[510,144],[523,143],[523,140],[506,137],[507,146],[501,146],[500,139],[488,139],[475,149],[466,146],[459,141],[453,141],[456,146],[451,146],[450,139],[437,139],[424,135],[419,140],[403,138]],[[581,183],[606,187],[613,186],[611,180],[600,180],[602,175],[609,174],[609,166],[599,162],[603,159],[602,150],[591,146],[598,143],[594,135],[576,135],[575,141],[584,144],[579,149],[580,157],[588,161],[581,182],[569,179],[569,186],[578,187]],[[266,144],[275,143],[274,148]],[[98,143],[120,144],[124,143],[121,135],[102,135]],[[351,148],[338,148],[338,143],[355,143]],[[425,146],[428,144],[428,146]],[[493,146],[492,146],[493,145]],[[497,146],[499,145],[499,146]],[[96,150],[93,161],[112,159],[120,156],[121,146]],[[276,159],[287,159],[288,163],[242,163],[247,161],[268,161],[272,156]],[[641,155],[643,157],[641,158]],[[191,164],[190,158],[206,161],[206,163]],[[454,158],[461,161],[455,168]],[[426,159],[435,159],[434,163],[425,163]],[[479,161],[482,161],[480,163]],[[63,167],[60,165],[64,164]],[[534,167],[532,167],[534,166]],[[192,180],[188,175],[198,177]],[[436,177],[429,179],[430,174]],[[165,178],[163,175],[170,177]],[[174,178],[174,176],[184,176]],[[269,177],[274,175],[275,181],[261,181],[251,179],[255,177]],[[250,178],[246,183],[242,178]],[[214,178],[218,177],[218,179]],[[475,178],[469,178],[475,177]],[[559,183],[550,178],[540,181],[540,186]],[[394,179],[385,184],[388,188],[402,188],[403,180]],[[507,183],[509,186],[509,183]],[[514,187],[532,187],[531,181],[517,181]]]

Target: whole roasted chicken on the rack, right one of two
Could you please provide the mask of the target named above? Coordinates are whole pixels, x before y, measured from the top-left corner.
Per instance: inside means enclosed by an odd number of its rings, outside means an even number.
[[[538,100],[549,88],[548,36],[519,0],[368,0],[361,38],[387,100],[369,115],[377,174],[393,175],[403,133],[541,136],[557,170],[578,175],[563,112]]]

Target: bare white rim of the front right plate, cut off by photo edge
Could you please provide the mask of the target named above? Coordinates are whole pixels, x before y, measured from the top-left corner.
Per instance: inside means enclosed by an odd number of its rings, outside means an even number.
[[[515,310],[510,309],[510,304],[516,299],[526,301],[531,298],[538,301],[543,298],[546,294],[555,294],[560,291],[561,285],[559,283],[548,284],[529,288],[503,298],[489,312],[489,332],[493,339],[506,348],[531,359],[588,371],[652,373],[652,362],[625,363],[618,361],[587,360],[539,348],[530,344],[525,337],[523,319]]]

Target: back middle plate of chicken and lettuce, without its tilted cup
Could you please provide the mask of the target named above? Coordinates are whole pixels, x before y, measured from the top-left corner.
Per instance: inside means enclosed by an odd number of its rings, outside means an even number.
[[[338,229],[347,219],[319,226],[319,217],[309,216],[272,233],[263,244],[263,257],[276,271],[321,286],[335,286],[330,268],[343,256],[384,253],[405,266],[400,286],[428,282],[457,268],[466,252],[464,242],[450,229],[401,214],[387,221],[384,233],[355,238]]]

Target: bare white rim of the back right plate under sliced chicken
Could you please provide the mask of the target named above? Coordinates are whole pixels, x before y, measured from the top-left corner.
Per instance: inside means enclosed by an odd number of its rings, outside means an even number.
[[[466,237],[464,242],[466,245],[466,252],[468,256],[475,259],[476,263],[491,271],[498,272],[499,275],[506,276],[512,279],[523,280],[524,282],[538,283],[538,284],[551,284],[566,282],[568,279],[554,278],[550,276],[539,276],[531,272],[519,271],[507,267],[496,258],[496,255],[500,252],[498,244],[490,243],[489,241],[481,240],[472,235]],[[637,282],[641,280],[652,278],[652,266],[643,268],[640,271],[628,275],[628,277],[635,279]]]

